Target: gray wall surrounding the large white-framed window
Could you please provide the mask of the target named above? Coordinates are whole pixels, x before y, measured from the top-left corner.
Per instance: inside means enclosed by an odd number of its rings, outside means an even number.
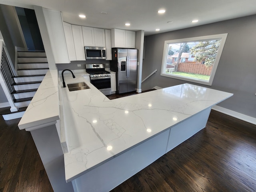
[[[160,76],[165,40],[223,33],[228,33],[228,37],[212,86],[197,85],[234,93],[218,106],[256,118],[256,15],[146,36],[142,80],[155,69],[158,71],[142,83],[142,90],[196,84]]]

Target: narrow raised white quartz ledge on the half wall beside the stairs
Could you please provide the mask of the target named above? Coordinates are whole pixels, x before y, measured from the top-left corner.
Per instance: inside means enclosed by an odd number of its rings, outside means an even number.
[[[27,131],[56,124],[59,120],[58,71],[48,70],[18,127]]]

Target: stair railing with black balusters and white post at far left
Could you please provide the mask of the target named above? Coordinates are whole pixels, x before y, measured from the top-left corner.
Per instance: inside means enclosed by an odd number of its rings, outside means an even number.
[[[18,111],[19,108],[14,104],[13,100],[14,96],[11,94],[13,92],[14,86],[14,73],[16,74],[14,67],[11,66],[12,61],[10,60],[10,56],[8,54],[7,49],[4,46],[4,41],[0,40],[0,84],[4,90],[4,94],[11,106],[10,111]]]

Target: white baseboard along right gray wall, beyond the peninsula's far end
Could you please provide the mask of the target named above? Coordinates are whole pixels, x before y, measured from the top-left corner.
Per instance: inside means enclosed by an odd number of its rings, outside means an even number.
[[[212,109],[256,125],[256,118],[253,118],[253,117],[250,117],[250,116],[247,116],[247,115],[244,115],[244,114],[241,114],[241,113],[238,113],[238,112],[235,112],[235,111],[232,111],[232,110],[220,107],[220,106],[216,106],[216,105],[213,106]]]

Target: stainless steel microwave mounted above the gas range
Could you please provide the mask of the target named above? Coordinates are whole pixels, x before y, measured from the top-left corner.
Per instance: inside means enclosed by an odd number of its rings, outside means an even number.
[[[106,59],[105,47],[84,47],[86,59]]]

